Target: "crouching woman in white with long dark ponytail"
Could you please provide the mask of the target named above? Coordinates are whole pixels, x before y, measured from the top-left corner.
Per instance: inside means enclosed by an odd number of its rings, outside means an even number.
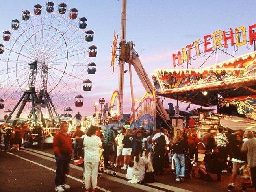
[[[130,183],[138,183],[139,181],[143,181],[145,176],[145,167],[146,164],[150,162],[151,157],[151,151],[148,154],[148,158],[140,157],[141,152],[139,150],[135,150],[134,152],[134,175],[135,178],[133,178],[131,181],[128,181]]]

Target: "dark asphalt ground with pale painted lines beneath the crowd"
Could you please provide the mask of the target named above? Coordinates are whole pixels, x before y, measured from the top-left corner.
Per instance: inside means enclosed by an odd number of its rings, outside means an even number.
[[[195,171],[197,166],[194,166]],[[176,182],[176,174],[170,168],[165,174],[156,175],[155,183],[133,184],[125,180],[125,170],[115,169],[117,177],[102,174],[98,179],[98,192],[226,192],[230,174],[223,173],[222,181],[205,182],[199,179],[197,171],[192,179]],[[0,147],[0,192],[50,192],[54,191],[55,160],[51,146],[44,151],[37,149],[10,150],[4,152]],[[212,175],[213,178],[216,175]],[[82,188],[82,168],[70,164],[67,175],[70,192],[85,191]],[[236,187],[234,192],[241,191]],[[248,192],[254,192],[252,188]]]

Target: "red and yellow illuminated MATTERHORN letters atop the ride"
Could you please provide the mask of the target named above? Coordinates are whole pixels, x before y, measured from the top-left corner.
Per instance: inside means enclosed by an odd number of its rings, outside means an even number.
[[[247,32],[249,32],[249,37],[247,37]],[[247,41],[247,38],[249,38],[249,41]],[[213,45],[211,44],[212,39]],[[218,30],[213,34],[205,35],[202,42],[198,39],[192,44],[187,45],[187,49],[182,48],[182,51],[178,51],[177,54],[173,53],[173,67],[182,65],[184,62],[190,61],[193,57],[200,56],[202,53],[216,50],[218,47],[228,48],[228,45],[239,47],[247,44],[247,42],[252,45],[254,41],[256,41],[256,24],[249,26],[248,31],[246,31],[245,26],[236,28],[235,33],[233,33],[232,28],[228,32]],[[200,52],[200,49],[202,49],[200,48],[201,45],[204,46],[202,52]]]

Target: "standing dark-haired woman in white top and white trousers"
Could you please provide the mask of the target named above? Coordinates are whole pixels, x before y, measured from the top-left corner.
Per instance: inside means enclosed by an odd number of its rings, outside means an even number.
[[[93,192],[97,187],[98,165],[100,161],[100,148],[102,142],[96,135],[97,127],[91,126],[84,137],[84,168],[85,168],[85,192],[89,192],[92,185]]]

